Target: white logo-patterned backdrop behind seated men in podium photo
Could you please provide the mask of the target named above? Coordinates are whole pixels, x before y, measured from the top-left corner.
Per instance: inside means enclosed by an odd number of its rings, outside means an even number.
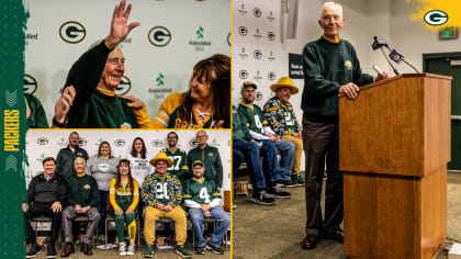
[[[280,1],[235,0],[233,2],[233,101],[241,99],[241,83],[258,86],[256,104],[261,108],[271,98],[269,86],[284,76],[280,54]]]

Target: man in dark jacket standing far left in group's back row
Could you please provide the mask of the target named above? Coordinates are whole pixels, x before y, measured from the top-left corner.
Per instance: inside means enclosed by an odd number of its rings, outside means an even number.
[[[72,176],[76,174],[74,169],[74,161],[77,157],[82,157],[88,160],[88,154],[79,145],[80,136],[78,133],[72,132],[69,135],[69,145],[61,148],[56,157],[56,172],[68,181]]]

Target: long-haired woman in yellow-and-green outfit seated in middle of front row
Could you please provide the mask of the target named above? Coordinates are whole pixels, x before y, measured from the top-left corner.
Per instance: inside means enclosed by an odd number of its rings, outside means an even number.
[[[130,160],[122,159],[119,162],[116,178],[110,184],[109,201],[112,205],[112,215],[115,217],[115,232],[119,239],[119,255],[133,256],[135,252],[136,240],[136,215],[139,202],[139,187],[132,177]],[[130,236],[130,246],[125,245],[126,222]]]

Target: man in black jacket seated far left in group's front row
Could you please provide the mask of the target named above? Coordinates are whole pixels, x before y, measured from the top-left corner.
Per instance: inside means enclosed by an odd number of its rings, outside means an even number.
[[[56,161],[53,157],[43,159],[44,173],[34,177],[29,183],[27,200],[29,205],[23,204],[23,212],[26,223],[26,243],[33,244],[26,258],[35,257],[41,252],[41,247],[36,243],[36,237],[27,219],[36,216],[52,217],[52,237],[47,248],[47,258],[56,257],[55,241],[59,234],[61,223],[61,210],[66,202],[67,184],[64,178],[55,173]]]

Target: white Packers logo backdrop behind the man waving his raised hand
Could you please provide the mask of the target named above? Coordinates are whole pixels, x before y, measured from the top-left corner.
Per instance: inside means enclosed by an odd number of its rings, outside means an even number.
[[[104,38],[119,0],[24,0],[24,92],[54,115],[71,65]],[[188,89],[193,66],[213,54],[231,55],[231,0],[133,1],[128,22],[140,22],[120,45],[125,75],[116,92],[142,99],[149,116],[171,92]]]

